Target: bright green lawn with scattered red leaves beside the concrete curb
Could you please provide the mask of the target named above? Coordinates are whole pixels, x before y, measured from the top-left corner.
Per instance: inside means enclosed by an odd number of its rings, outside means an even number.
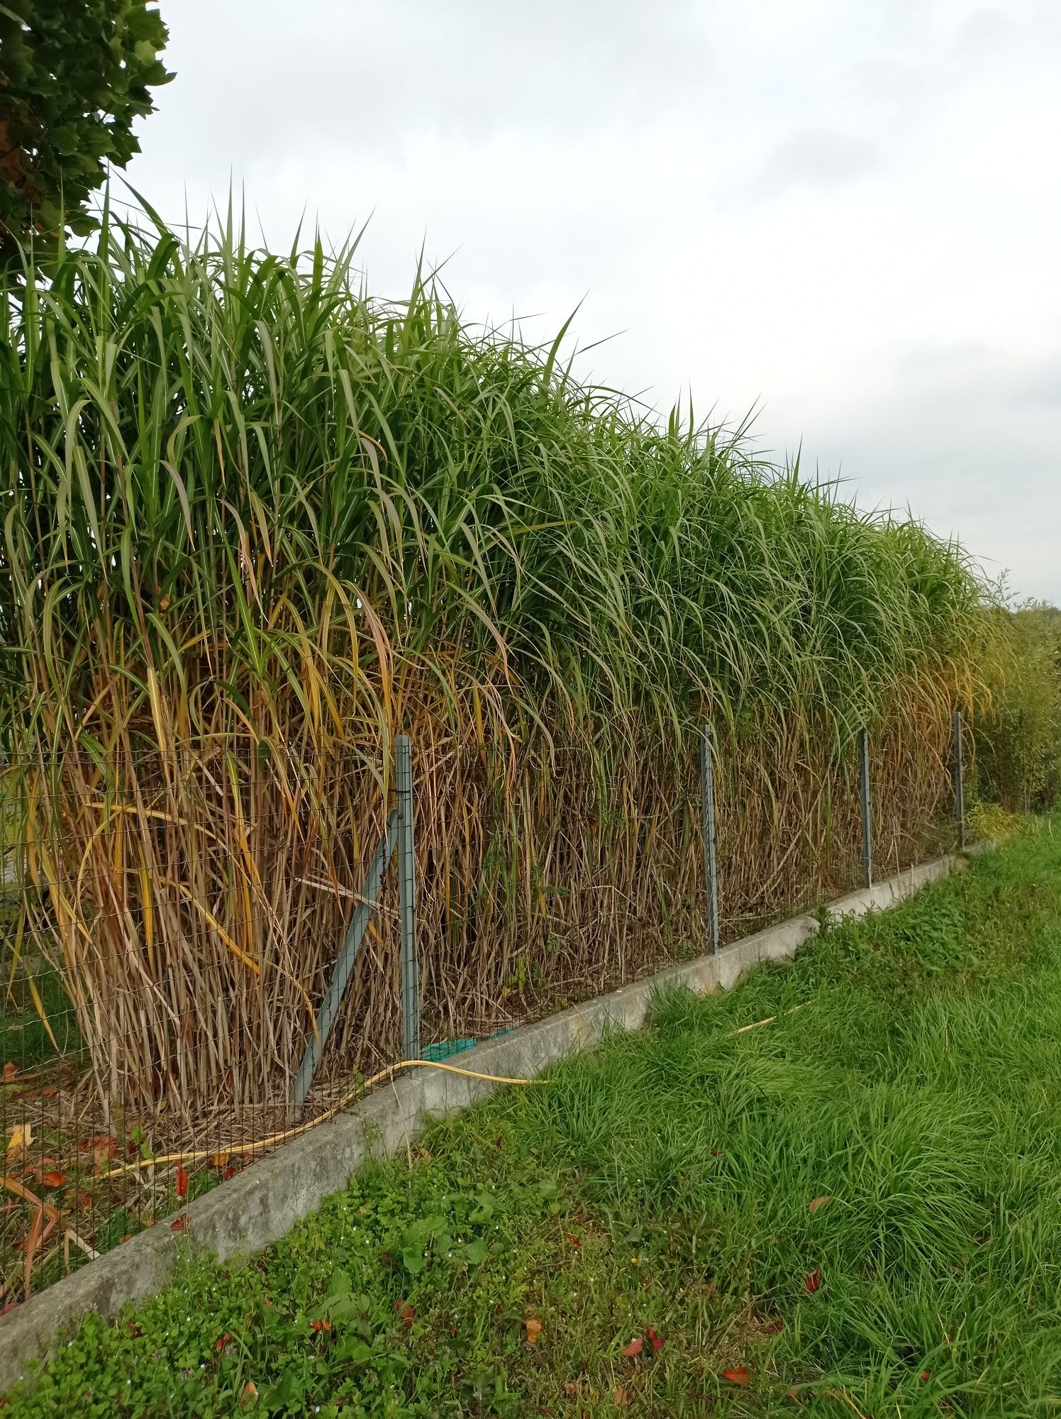
[[[1044,823],[89,1321],[9,1412],[228,1415],[252,1382],[272,1413],[1051,1413],[1060,1069]]]

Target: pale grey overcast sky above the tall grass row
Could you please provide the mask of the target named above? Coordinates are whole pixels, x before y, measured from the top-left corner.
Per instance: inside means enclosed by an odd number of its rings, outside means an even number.
[[[583,373],[735,420],[1061,602],[1061,3],[162,0],[129,180],[379,294],[448,258]],[[584,299],[583,299],[584,298]]]

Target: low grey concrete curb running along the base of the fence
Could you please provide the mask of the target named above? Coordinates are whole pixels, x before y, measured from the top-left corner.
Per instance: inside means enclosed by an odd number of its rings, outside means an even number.
[[[828,904],[834,920],[864,917],[902,901],[926,883],[965,866],[965,854],[939,857],[898,877],[851,893]],[[635,1030],[652,998],[674,986],[698,995],[729,990],[760,961],[787,961],[818,931],[814,917],[793,917],[726,946],[609,995],[576,1005],[536,1025],[478,1044],[462,1056],[484,1074],[513,1078],[540,1073],[548,1064],[600,1039],[606,1026]],[[377,1090],[363,1103],[292,1139],[275,1154],[237,1174],[230,1182],[191,1202],[187,1229],[165,1225],[140,1232],[99,1260],[31,1297],[0,1321],[0,1393],[23,1379],[31,1359],[54,1354],[61,1334],[77,1330],[88,1311],[112,1317],[126,1301],[152,1296],[170,1280],[179,1256],[190,1249],[213,1252],[218,1260],[258,1250],[282,1237],[325,1198],[346,1188],[366,1158],[396,1154],[416,1137],[424,1120],[465,1108],[492,1093],[485,1080],[416,1070]]]

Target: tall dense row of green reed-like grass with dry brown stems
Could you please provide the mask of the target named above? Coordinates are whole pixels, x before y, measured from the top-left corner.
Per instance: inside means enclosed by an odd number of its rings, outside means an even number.
[[[699,948],[699,722],[736,931],[841,885],[861,724],[909,856],[977,683],[956,546],[350,255],[109,221],[0,301],[24,929],[138,1108],[285,1097],[396,732],[460,1033]],[[393,1057],[393,908],[335,1059]]]

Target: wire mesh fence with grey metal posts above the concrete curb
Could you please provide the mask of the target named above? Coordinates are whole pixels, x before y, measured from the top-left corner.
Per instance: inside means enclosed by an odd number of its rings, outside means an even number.
[[[401,736],[396,766],[1,765],[0,1304],[180,1229],[403,1057],[725,949],[959,837],[957,756],[925,776],[864,736],[824,771],[794,748],[753,776],[711,749],[607,782],[584,746]]]

